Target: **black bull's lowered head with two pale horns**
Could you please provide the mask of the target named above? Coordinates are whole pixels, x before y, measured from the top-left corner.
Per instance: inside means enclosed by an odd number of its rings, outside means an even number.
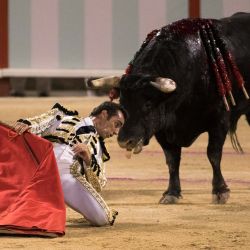
[[[169,78],[129,74],[92,80],[91,84],[98,88],[109,86],[119,92],[120,104],[129,117],[119,132],[118,143],[134,154],[141,152],[162,126],[164,117],[159,105],[176,89]]]

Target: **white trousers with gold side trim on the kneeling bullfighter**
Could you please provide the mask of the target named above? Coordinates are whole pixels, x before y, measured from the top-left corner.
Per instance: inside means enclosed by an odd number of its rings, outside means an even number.
[[[74,162],[71,148],[65,144],[53,144],[65,203],[94,226],[110,224],[109,208],[101,196],[89,183],[80,182],[71,174],[70,167]]]

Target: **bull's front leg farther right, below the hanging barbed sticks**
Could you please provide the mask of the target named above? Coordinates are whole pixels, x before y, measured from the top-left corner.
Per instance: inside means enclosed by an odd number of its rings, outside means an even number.
[[[212,195],[213,203],[225,204],[229,198],[230,189],[228,188],[223,175],[221,173],[221,157],[222,149],[226,139],[226,131],[222,133],[222,130],[210,131],[209,141],[207,147],[207,156],[213,167],[213,180],[212,180]]]

